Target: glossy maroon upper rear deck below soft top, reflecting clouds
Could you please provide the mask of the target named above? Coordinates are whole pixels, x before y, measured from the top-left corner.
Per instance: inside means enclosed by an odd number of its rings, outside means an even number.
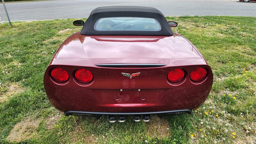
[[[202,58],[182,36],[81,35],[64,43],[56,58]]]

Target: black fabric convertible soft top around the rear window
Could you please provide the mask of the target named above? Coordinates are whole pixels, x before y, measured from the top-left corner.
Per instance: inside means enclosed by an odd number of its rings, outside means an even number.
[[[154,18],[161,25],[160,31],[97,31],[96,21],[109,17]],[[173,32],[161,11],[143,6],[104,6],[94,9],[81,30],[83,35],[173,35]]]

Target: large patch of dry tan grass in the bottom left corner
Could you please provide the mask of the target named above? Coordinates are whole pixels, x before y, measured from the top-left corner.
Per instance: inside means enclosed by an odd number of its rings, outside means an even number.
[[[19,142],[27,140],[32,137],[36,137],[36,127],[38,126],[40,119],[27,118],[17,123],[11,130],[10,134],[6,138],[11,142]]]

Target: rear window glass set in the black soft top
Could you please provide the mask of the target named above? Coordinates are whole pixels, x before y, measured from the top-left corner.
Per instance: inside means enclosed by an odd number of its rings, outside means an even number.
[[[100,18],[94,25],[97,31],[160,31],[156,19],[139,17]]]

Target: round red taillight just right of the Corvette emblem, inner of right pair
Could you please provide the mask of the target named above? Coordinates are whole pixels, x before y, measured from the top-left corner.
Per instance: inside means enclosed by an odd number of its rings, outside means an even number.
[[[184,78],[184,71],[182,69],[174,69],[168,73],[168,80],[173,83],[180,82]]]

